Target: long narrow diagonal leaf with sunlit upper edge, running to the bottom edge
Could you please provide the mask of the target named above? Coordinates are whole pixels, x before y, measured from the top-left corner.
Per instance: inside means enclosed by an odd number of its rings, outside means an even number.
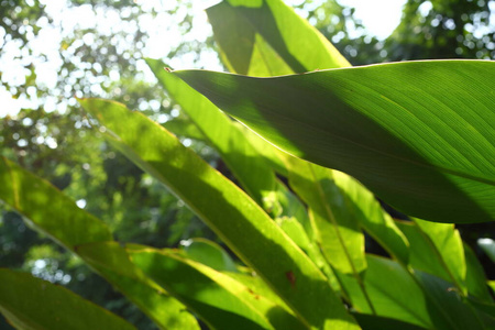
[[[301,320],[358,327],[316,265],[233,183],[143,114],[111,101],[80,103],[105,124],[111,144],[182,198]]]

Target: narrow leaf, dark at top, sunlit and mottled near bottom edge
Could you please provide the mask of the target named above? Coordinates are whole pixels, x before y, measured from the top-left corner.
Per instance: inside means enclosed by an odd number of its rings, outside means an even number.
[[[156,283],[147,278],[118,242],[76,246],[76,252],[116,286],[161,329],[199,329],[196,318]]]

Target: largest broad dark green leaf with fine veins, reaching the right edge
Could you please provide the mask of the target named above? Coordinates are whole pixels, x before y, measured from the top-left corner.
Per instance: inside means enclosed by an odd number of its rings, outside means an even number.
[[[275,78],[174,74],[275,145],[356,177],[408,215],[495,218],[495,63],[393,63]]]

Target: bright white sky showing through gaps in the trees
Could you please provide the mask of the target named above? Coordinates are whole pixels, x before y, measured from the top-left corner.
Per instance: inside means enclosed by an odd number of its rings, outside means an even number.
[[[400,21],[402,8],[406,2],[406,0],[338,1],[342,4],[354,7],[355,18],[361,20],[370,33],[376,35],[378,38],[385,38],[397,26]],[[42,2],[46,4],[46,11],[54,18],[55,24],[62,26],[64,31],[70,31],[75,26],[79,26],[80,29],[95,26],[96,22],[98,22],[100,31],[105,31],[102,33],[111,34],[113,29],[116,29],[116,22],[119,19],[117,12],[97,12],[97,15],[94,15],[89,6],[80,6],[76,10],[68,10],[66,8],[66,0],[44,0]],[[152,58],[164,57],[170,48],[177,45],[180,42],[180,38],[184,37],[178,29],[174,29],[178,25],[177,20],[182,20],[180,12],[175,16],[164,12],[166,6],[174,8],[176,1],[141,0],[135,2],[138,2],[139,6],[148,9],[154,8],[158,12],[155,20],[142,18],[139,22],[140,26],[145,26],[150,34],[148,43],[143,51],[144,56]],[[193,26],[195,28],[193,33],[187,36],[188,38],[201,42],[208,37],[211,33],[211,28],[207,22],[204,10],[216,2],[219,2],[219,0],[193,1],[193,16],[195,18]],[[289,4],[300,3],[301,0],[286,0],[286,2]],[[3,45],[4,33],[6,32],[0,28],[0,47],[2,47],[2,53],[0,54],[0,72],[2,73],[2,79],[9,81],[9,84],[13,82],[21,85],[23,84],[23,78],[20,79],[19,77],[23,77],[23,72],[25,69],[23,68],[22,61],[12,61],[14,57],[19,58],[21,54],[19,47],[14,43]],[[164,36],[166,42],[164,42]],[[34,56],[43,54],[48,58],[47,62],[40,61],[38,64],[35,63],[38,77],[36,82],[44,84],[48,88],[54,87],[56,84],[57,68],[62,61],[61,55],[58,54],[58,45],[62,37],[58,30],[51,28],[46,22],[45,28],[41,30],[38,37],[33,38],[30,42],[34,50]],[[86,41],[84,40],[84,42]],[[187,68],[193,67],[193,57],[173,58],[170,59],[169,65],[175,68]],[[205,67],[209,69],[220,69],[215,54],[202,54],[201,62],[205,63]],[[142,63],[142,69],[145,73],[145,76],[152,76],[151,70],[146,67],[144,62]],[[32,107],[29,100],[13,99],[6,88],[0,85],[0,118],[7,114],[15,116],[21,108],[29,107]],[[55,98],[45,100],[45,109],[51,111],[53,110],[52,108],[55,109]]]

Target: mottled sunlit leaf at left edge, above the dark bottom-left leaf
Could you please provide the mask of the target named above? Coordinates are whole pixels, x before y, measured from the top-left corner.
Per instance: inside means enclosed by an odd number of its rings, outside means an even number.
[[[78,208],[48,182],[4,157],[0,157],[0,199],[26,217],[28,224],[66,249],[112,240],[107,224]]]

